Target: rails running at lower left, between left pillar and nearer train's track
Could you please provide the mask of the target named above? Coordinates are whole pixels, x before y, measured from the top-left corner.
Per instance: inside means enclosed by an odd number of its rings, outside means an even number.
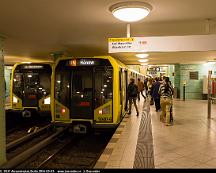
[[[16,141],[7,144],[7,159],[2,168],[15,168],[26,159],[39,152],[42,148],[53,143],[67,128],[49,130],[53,125],[39,129],[37,132],[26,135]]]

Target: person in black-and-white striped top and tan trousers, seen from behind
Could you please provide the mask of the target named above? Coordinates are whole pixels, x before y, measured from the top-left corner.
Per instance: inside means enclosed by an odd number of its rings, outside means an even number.
[[[172,125],[170,123],[170,108],[172,105],[173,89],[170,85],[169,78],[166,77],[164,83],[160,85],[159,94],[161,96],[160,104],[162,109],[160,120],[165,120],[166,126],[170,126]]]

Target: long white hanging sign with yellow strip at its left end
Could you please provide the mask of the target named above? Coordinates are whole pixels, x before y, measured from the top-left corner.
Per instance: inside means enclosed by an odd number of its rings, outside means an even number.
[[[178,52],[216,50],[216,35],[109,38],[108,52]]]

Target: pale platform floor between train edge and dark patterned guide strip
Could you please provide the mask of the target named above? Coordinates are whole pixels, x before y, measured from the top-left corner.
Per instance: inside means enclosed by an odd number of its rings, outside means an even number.
[[[125,116],[95,168],[133,168],[143,103],[142,99],[137,104],[140,113],[138,117],[132,106],[131,115]]]

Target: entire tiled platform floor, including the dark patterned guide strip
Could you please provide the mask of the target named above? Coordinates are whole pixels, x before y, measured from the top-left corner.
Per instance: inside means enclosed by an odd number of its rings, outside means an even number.
[[[95,168],[216,168],[215,104],[208,119],[207,100],[174,100],[173,126],[148,101],[138,105],[139,117],[133,110],[123,119]]]

